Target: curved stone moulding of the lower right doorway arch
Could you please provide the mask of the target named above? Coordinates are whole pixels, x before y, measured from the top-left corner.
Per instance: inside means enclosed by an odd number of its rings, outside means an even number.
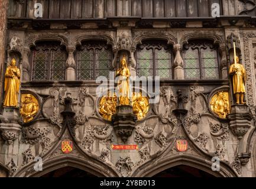
[[[177,165],[187,165],[193,168],[197,168],[208,172],[215,177],[238,177],[235,171],[223,162],[221,162],[220,171],[212,171],[212,163],[210,160],[206,161],[205,158],[189,154],[176,154],[171,157],[165,157],[160,161],[157,161],[157,164],[147,162],[146,164],[142,165],[142,167],[140,167],[140,170],[136,170],[132,176],[153,177],[159,172],[167,170],[168,168],[176,167]]]

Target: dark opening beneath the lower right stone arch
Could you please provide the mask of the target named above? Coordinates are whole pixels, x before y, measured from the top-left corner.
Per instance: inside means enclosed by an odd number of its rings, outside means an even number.
[[[167,170],[161,171],[153,177],[215,177],[208,172],[199,170],[195,167],[188,165],[177,165],[175,167],[168,168]]]

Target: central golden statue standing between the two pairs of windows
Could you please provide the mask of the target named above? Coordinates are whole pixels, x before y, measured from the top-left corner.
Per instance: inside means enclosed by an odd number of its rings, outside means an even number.
[[[118,78],[118,96],[119,105],[130,105],[129,101],[129,76],[131,76],[130,71],[127,67],[125,56],[121,60],[121,67],[116,72],[116,77]]]

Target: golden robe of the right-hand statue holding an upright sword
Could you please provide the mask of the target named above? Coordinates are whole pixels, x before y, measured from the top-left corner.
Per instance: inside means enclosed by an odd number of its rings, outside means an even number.
[[[229,67],[229,74],[232,76],[233,81],[233,92],[245,93],[245,79],[246,72],[242,64],[231,64]]]

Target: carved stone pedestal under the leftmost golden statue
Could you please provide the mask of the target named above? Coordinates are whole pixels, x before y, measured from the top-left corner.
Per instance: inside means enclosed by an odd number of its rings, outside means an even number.
[[[0,116],[0,120],[1,136],[8,144],[12,144],[21,131],[19,109],[16,107],[4,107],[4,113]]]

